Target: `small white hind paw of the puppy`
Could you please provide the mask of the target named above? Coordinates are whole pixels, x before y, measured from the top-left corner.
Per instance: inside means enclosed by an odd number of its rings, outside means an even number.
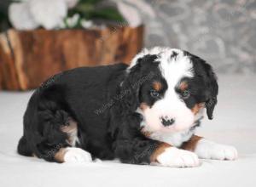
[[[90,153],[76,147],[67,148],[67,152],[64,156],[65,162],[90,162],[92,161]]]

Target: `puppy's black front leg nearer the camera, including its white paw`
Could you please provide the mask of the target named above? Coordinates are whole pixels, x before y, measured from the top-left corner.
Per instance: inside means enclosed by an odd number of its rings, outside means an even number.
[[[196,167],[198,157],[188,150],[179,150],[170,144],[152,139],[122,140],[117,144],[116,155],[123,162],[157,163],[166,167]]]

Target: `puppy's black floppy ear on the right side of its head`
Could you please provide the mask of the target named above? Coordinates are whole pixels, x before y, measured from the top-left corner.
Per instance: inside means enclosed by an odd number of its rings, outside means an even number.
[[[204,69],[206,71],[206,108],[207,108],[207,116],[210,120],[212,120],[213,110],[215,105],[217,105],[217,95],[218,95],[218,82],[215,73],[212,71],[212,66],[208,65],[206,62],[203,63]]]

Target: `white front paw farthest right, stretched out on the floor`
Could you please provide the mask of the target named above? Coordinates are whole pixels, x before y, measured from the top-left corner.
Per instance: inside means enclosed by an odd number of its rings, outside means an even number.
[[[216,160],[236,160],[235,147],[225,144],[217,144],[207,139],[201,139],[195,148],[195,154],[200,158]]]

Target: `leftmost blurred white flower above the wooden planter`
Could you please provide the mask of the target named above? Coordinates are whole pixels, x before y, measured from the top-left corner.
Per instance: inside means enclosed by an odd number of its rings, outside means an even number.
[[[29,11],[28,3],[12,3],[9,6],[9,20],[17,30],[33,30],[39,26]]]

